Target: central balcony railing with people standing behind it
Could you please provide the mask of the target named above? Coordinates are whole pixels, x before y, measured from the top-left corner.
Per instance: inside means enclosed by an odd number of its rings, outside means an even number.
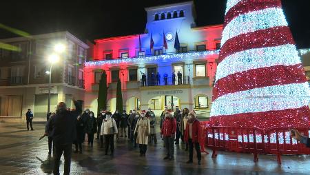
[[[178,78],[176,76],[175,79],[172,77],[167,77],[167,79],[161,78],[156,79],[152,77],[148,77],[147,79],[141,79],[140,85],[141,86],[156,86],[156,85],[189,85],[189,76],[182,76],[182,78]]]

